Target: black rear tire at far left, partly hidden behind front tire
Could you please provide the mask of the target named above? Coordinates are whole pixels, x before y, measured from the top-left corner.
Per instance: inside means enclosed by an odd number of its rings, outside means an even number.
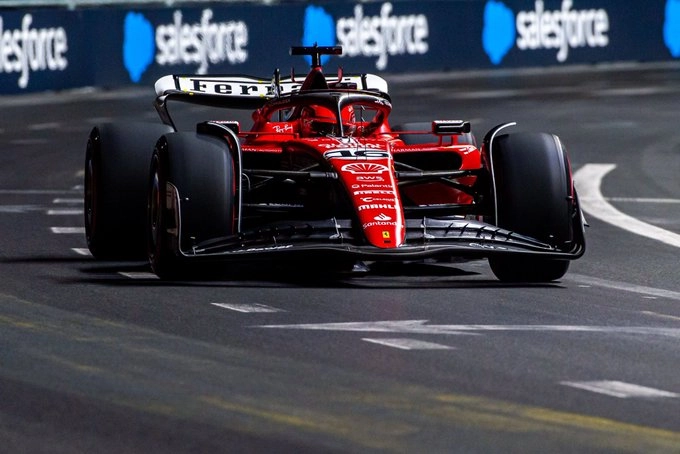
[[[85,236],[100,260],[144,258],[149,158],[159,124],[106,124],[92,129],[85,151]]]

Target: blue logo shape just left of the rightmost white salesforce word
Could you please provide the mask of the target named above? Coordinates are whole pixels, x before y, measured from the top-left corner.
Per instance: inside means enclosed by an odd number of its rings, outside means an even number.
[[[503,2],[489,0],[484,7],[482,46],[491,63],[498,65],[515,45],[515,15]]]

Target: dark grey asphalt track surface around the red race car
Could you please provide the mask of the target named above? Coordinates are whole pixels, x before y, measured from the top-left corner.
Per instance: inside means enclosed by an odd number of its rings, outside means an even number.
[[[590,227],[560,282],[484,261],[164,283],[84,255],[93,124],[2,97],[0,452],[680,452],[680,68],[399,75],[393,123],[558,134]],[[623,228],[626,227],[626,228]]]

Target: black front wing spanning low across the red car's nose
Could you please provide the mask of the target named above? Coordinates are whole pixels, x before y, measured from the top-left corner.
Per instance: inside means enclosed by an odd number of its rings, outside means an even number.
[[[305,257],[411,261],[428,258],[478,259],[499,254],[573,260],[585,252],[583,224],[577,221],[574,224],[574,241],[557,248],[476,220],[407,219],[404,245],[382,249],[363,243],[361,235],[353,233],[350,220],[288,221],[209,240],[179,252],[187,259],[209,261]]]

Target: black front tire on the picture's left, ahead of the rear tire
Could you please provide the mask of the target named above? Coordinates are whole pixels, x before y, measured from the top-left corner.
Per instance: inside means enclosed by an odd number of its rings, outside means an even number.
[[[234,160],[225,141],[166,134],[151,158],[147,255],[162,279],[193,277],[190,255],[199,243],[235,232]],[[176,191],[176,192],[175,192]]]

